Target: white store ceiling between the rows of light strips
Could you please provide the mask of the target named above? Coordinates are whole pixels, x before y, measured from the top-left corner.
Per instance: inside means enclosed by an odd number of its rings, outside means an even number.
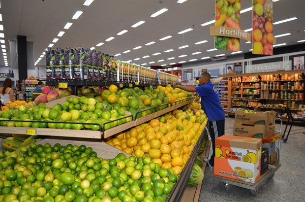
[[[214,20],[215,1],[213,0],[188,0],[178,4],[177,0],[95,0],[90,6],[84,6],[85,0],[2,0],[0,13],[4,25],[5,45],[10,65],[9,40],[15,40],[17,35],[26,36],[27,41],[34,42],[35,61],[44,50],[58,38],[52,48],[61,47],[96,47],[100,42],[104,45],[95,50],[105,54],[115,55],[116,60],[143,64],[155,61],[151,65],[169,64],[179,61],[189,62],[191,59],[201,60],[202,57],[214,57],[218,54],[231,55],[229,51],[217,50],[206,52],[214,48],[214,37],[209,36],[209,26],[200,26],[210,20]],[[241,10],[251,7],[251,0],[242,0]],[[167,12],[153,18],[151,14],[162,8]],[[299,44],[297,41],[305,39],[305,1],[304,0],[280,0],[273,3],[273,22],[287,18],[297,17],[297,20],[285,22],[273,26],[273,35],[290,32],[290,36],[277,38],[277,43],[288,45]],[[83,11],[77,19],[72,19],[76,11]],[[145,21],[144,24],[132,28],[131,25]],[[251,11],[241,14],[241,29],[252,27]],[[67,22],[73,25],[64,29]],[[214,25],[214,24],[211,24]],[[192,31],[179,35],[177,32],[193,28]],[[127,29],[128,32],[121,36],[116,33]],[[65,31],[63,37],[57,37],[59,31]],[[0,31],[1,32],[1,31]],[[160,41],[159,39],[172,36],[172,38]],[[110,42],[105,42],[109,37],[115,37]],[[207,40],[207,43],[195,45],[196,42]],[[153,45],[146,43],[155,41]],[[251,52],[252,44],[240,40],[240,50],[243,53]],[[180,46],[189,45],[188,48],[178,49]],[[142,48],[133,50],[137,46]],[[165,50],[174,51],[165,53]],[[129,53],[123,53],[131,50]],[[192,55],[194,52],[202,52]],[[0,51],[2,52],[2,51]],[[154,53],[161,54],[153,56]],[[179,55],[188,55],[179,58]],[[149,55],[148,58],[142,58]],[[175,57],[168,60],[167,58]],[[135,58],[141,58],[134,61]],[[157,62],[164,59],[165,61]],[[45,58],[40,63],[45,65]],[[1,54],[0,65],[4,65]]]

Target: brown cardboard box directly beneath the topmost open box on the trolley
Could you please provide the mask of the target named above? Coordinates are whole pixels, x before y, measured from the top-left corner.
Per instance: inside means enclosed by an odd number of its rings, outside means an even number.
[[[241,123],[234,123],[233,136],[264,139],[275,136],[275,128],[275,125],[242,125]]]

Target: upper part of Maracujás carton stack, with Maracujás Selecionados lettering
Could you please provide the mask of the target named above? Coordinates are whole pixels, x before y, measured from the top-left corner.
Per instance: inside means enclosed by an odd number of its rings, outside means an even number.
[[[215,156],[256,163],[261,157],[262,139],[224,135],[215,139]]]

